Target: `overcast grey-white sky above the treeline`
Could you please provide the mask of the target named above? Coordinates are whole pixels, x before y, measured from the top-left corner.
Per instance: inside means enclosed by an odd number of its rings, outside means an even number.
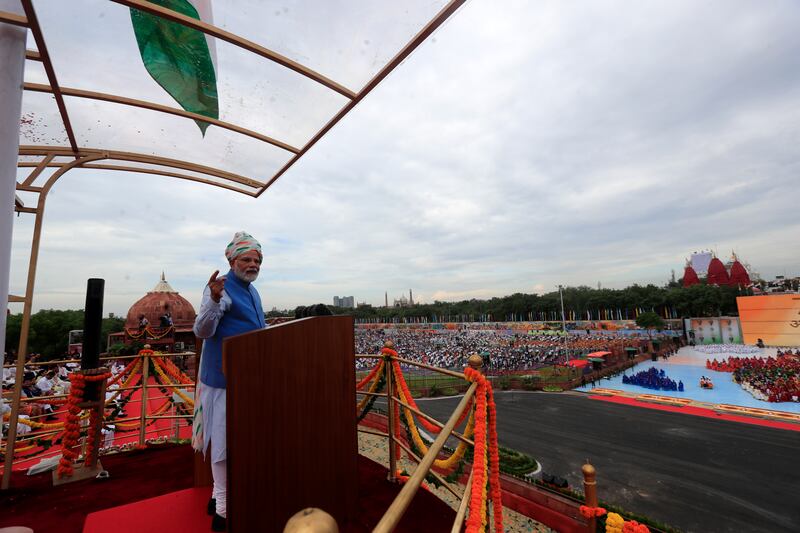
[[[275,19],[293,9],[275,10]],[[135,47],[129,19],[107,20],[103,31]],[[158,176],[62,178],[47,202],[34,308],[80,308],[86,279],[101,277],[105,310],[124,313],[162,270],[197,305],[241,229],[264,246],[257,285],[267,309],[334,295],[378,305],[385,291],[391,300],[409,289],[432,302],[663,283],[701,248],[723,259],[735,249],[764,277],[798,275],[798,27],[794,0],[470,0],[258,199]],[[284,53],[341,72],[351,88],[365,81],[364,69],[347,68],[357,59],[337,70],[335,50],[303,46],[302,31],[294,28]],[[80,36],[67,28],[61,38],[70,37]],[[368,41],[368,50],[380,44]],[[315,58],[315,50],[325,51]],[[269,131],[242,111],[247,95],[226,92],[250,71],[219,52],[221,118]],[[72,77],[62,85],[79,86]],[[147,94],[130,96],[169,104],[143,79]],[[275,101],[270,91],[278,100],[291,93],[264,83],[252,97],[259,109]],[[109,84],[96,90],[113,92]],[[292,100],[296,123],[274,115],[288,137],[302,139],[303,124],[341,105],[315,94]],[[98,109],[70,107],[78,123]],[[130,135],[204,142],[186,122],[179,135],[146,121]],[[241,153],[243,167],[274,157]],[[11,293],[19,294],[33,217],[15,221]]]

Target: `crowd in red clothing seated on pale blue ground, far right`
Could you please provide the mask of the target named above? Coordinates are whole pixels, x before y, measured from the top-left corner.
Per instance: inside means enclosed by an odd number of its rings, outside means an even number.
[[[791,352],[791,350],[788,350]],[[706,368],[733,372],[733,379],[755,398],[766,402],[800,401],[800,355],[729,357],[706,361]]]

